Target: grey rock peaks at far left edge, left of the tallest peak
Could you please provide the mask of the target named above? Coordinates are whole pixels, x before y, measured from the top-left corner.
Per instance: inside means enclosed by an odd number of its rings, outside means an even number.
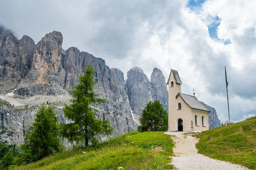
[[[14,89],[31,68],[34,41],[29,36],[17,40],[12,33],[0,36],[0,93]]]

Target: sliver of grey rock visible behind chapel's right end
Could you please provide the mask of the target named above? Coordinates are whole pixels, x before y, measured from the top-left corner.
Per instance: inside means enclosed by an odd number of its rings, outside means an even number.
[[[209,112],[209,129],[220,127],[221,123],[218,118],[216,110],[213,107],[205,104],[204,102],[201,102],[201,104],[204,105],[204,107],[210,111]]]

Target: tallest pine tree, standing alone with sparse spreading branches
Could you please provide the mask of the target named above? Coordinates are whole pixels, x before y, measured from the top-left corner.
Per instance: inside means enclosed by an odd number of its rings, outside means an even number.
[[[94,70],[88,65],[84,70],[84,75],[79,76],[79,84],[74,86],[70,92],[73,99],[70,105],[65,105],[63,112],[72,123],[62,125],[62,135],[68,141],[76,141],[88,146],[89,142],[100,134],[111,134],[113,128],[110,127],[108,120],[99,120],[96,118],[92,104],[102,104],[105,99],[98,98],[99,95],[93,92],[93,86],[97,82],[93,81]]]

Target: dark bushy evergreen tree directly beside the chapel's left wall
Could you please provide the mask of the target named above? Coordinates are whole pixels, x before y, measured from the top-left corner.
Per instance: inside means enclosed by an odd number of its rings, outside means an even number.
[[[146,107],[142,111],[140,118],[140,126],[138,130],[140,132],[147,131],[147,122],[151,120],[151,128],[155,131],[166,131],[168,128],[168,113],[163,108],[163,105],[159,100],[154,102],[148,102]]]

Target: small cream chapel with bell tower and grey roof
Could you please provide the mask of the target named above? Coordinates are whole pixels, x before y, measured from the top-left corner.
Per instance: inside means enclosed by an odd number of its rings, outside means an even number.
[[[168,131],[209,130],[209,112],[195,96],[181,93],[179,73],[171,70],[168,79]]]

